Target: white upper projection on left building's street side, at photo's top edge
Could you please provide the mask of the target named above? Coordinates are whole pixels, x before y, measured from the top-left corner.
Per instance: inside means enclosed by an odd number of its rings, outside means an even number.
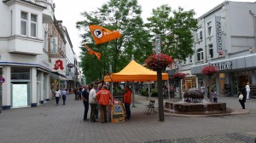
[[[43,23],[51,23],[54,21],[54,5],[52,0],[36,0],[38,5],[44,6]]]

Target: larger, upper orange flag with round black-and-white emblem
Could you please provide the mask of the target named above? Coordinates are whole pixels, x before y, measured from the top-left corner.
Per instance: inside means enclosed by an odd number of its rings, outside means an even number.
[[[108,41],[121,37],[119,31],[109,31],[102,26],[91,25],[89,28],[96,44],[107,43]]]

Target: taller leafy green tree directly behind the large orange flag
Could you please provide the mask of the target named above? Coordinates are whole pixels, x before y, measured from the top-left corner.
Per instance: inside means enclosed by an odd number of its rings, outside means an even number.
[[[84,30],[81,35],[84,42],[91,43],[91,49],[97,49],[97,52],[102,54],[101,71],[112,65],[113,72],[119,72],[131,60],[132,54],[137,62],[143,63],[143,60],[152,53],[150,35],[143,29],[141,13],[141,6],[138,5],[137,0],[110,0],[96,11],[82,13],[85,20],[78,21],[77,28]],[[92,24],[109,30],[118,30],[122,36],[117,40],[95,45],[88,28]],[[85,53],[81,55],[81,60],[83,60],[81,66],[87,77],[90,75],[86,75],[87,70],[84,69],[86,68],[84,65],[88,65],[92,59],[86,58],[88,54]]]

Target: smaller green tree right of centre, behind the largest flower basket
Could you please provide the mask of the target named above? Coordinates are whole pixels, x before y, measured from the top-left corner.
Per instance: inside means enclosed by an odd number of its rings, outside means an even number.
[[[197,28],[194,10],[184,11],[182,8],[173,10],[168,5],[153,9],[153,15],[145,24],[149,31],[161,36],[161,51],[173,59],[185,60],[194,54],[194,38],[192,32]]]

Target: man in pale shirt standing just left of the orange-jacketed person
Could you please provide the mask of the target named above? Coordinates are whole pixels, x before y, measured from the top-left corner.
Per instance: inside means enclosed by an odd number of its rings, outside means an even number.
[[[96,105],[98,104],[98,101],[96,100],[96,89],[97,85],[93,85],[93,88],[90,89],[89,93],[89,103],[90,103],[90,122],[96,122]]]

